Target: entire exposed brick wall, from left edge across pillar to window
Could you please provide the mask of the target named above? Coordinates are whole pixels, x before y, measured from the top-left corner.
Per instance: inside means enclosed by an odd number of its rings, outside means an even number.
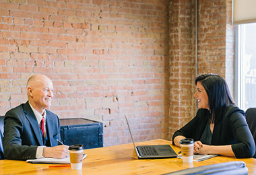
[[[231,0],[199,0],[199,74],[232,83]],[[104,146],[171,139],[195,114],[195,0],[0,1],[0,114],[53,80],[60,118],[104,124]]]

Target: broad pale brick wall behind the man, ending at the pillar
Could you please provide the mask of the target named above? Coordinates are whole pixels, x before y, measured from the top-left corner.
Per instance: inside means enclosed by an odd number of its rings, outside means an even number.
[[[0,114],[26,102],[34,73],[53,80],[60,118],[104,123],[104,145],[167,139],[167,0],[0,2]]]

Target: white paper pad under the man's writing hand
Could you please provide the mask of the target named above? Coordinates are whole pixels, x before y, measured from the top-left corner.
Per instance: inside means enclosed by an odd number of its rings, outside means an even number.
[[[87,154],[84,154],[83,160],[86,158]],[[26,162],[30,162],[32,164],[70,164],[69,157],[65,157],[63,159],[55,159],[55,158],[40,158],[35,160],[26,160]]]

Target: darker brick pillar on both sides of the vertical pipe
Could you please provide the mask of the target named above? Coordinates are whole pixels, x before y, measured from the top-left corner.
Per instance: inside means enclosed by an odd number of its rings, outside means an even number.
[[[169,138],[195,116],[195,1],[170,3],[170,118]],[[198,74],[234,81],[234,30],[231,0],[198,1]],[[174,16],[173,16],[174,15]],[[178,17],[177,17],[178,16]]]

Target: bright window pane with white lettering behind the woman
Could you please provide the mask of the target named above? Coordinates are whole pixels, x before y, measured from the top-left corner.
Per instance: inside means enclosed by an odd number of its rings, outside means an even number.
[[[236,104],[256,108],[256,23],[237,26],[236,59]]]

